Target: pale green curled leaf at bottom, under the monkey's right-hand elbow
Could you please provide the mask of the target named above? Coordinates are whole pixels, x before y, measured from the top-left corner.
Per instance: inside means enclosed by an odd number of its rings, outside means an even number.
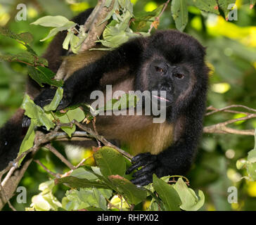
[[[174,189],[177,191],[179,198],[181,199],[181,210],[196,211],[203,206],[205,202],[205,195],[202,191],[199,191],[200,200],[196,196],[196,193],[186,186],[182,178],[179,178],[174,185]]]

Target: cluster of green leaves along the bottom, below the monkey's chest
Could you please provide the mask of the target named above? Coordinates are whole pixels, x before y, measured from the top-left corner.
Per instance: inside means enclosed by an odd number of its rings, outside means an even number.
[[[104,158],[101,160],[104,159],[105,162],[99,160],[101,158],[99,154],[104,154]],[[196,194],[186,186],[181,178],[179,178],[177,184],[170,185],[166,183],[169,177],[163,178],[164,181],[154,175],[153,189],[135,186],[131,181],[118,175],[124,174],[126,164],[123,156],[117,153],[114,148],[103,147],[94,153],[94,158],[96,158],[98,167],[79,167],[72,171],[70,176],[55,179],[55,184],[65,184],[75,188],[66,192],[61,205],[54,198],[51,191],[47,193],[46,198],[43,190],[42,193],[32,198],[32,207],[27,210],[57,210],[59,207],[64,210],[113,210],[113,201],[111,200],[114,200],[115,196],[118,196],[122,202],[119,210],[127,210],[145,201],[149,193],[154,196],[151,200],[151,210],[198,210],[203,205],[203,192],[199,192],[200,201],[198,201]],[[113,163],[114,158],[117,160],[115,163]],[[121,159],[123,159],[122,162]],[[117,162],[121,163],[120,169],[116,167]],[[48,181],[47,184],[53,184],[52,182],[53,180]],[[42,191],[41,186],[45,186],[45,183],[39,186],[40,191]],[[159,197],[152,193],[155,191]],[[55,205],[53,205],[53,201]],[[115,205],[117,203],[118,201],[115,200]],[[116,210],[116,207],[114,208]]]

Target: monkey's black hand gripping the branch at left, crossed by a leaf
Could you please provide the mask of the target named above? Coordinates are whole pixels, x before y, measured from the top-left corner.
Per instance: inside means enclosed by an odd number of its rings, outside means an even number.
[[[68,105],[70,105],[72,101],[72,96],[65,94],[66,91],[63,93],[63,98],[60,101],[57,110],[62,110],[63,108],[66,108]],[[49,105],[51,101],[53,101],[53,98],[56,94],[56,89],[44,89],[36,98],[34,98],[34,103],[36,105],[39,105],[41,108],[44,108],[45,105]],[[30,126],[30,118],[25,116],[23,117],[23,127],[29,127]]]

